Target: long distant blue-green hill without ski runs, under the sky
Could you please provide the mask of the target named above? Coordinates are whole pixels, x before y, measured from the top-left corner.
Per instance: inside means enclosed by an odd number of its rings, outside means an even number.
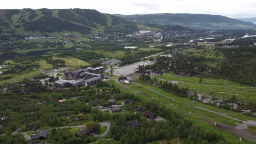
[[[179,25],[195,29],[255,29],[256,25],[220,15],[205,14],[147,14],[115,15],[141,24]]]

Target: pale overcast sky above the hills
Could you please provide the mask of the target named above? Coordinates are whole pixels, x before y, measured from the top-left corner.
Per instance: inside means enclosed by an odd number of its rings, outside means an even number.
[[[0,9],[83,8],[108,14],[192,13],[256,17],[256,0],[7,0]]]

